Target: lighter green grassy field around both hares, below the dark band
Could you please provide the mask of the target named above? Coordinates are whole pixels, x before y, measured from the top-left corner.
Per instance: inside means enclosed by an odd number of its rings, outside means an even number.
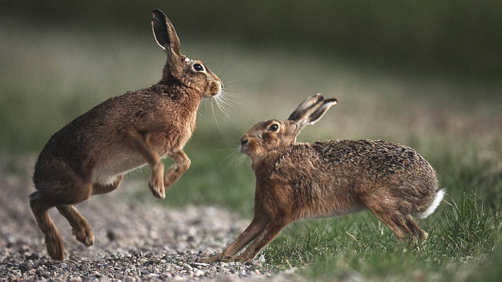
[[[155,83],[164,63],[150,37],[34,30],[34,49],[21,44],[28,31],[18,29],[0,30],[0,37],[19,46],[0,45],[0,63],[9,69],[0,74],[4,155],[40,152],[50,134],[99,101]],[[287,117],[306,95],[322,92],[339,104],[305,128],[300,141],[368,138],[409,145],[433,165],[448,196],[418,221],[429,238],[417,245],[398,242],[368,212],[305,220],[262,251],[267,267],[297,266],[301,275],[323,280],[351,273],[377,281],[502,278],[496,263],[502,259],[499,87],[432,73],[410,77],[305,51],[196,43],[182,38],[183,52],[192,58],[212,53],[210,67],[216,73],[227,67],[226,80],[238,80],[229,84],[240,104],[228,108],[230,118],[202,104],[185,147],[192,166],[159,204],[220,206],[250,219],[255,176],[248,159],[236,154],[239,136],[260,120]],[[145,169],[135,176],[145,178],[138,198],[152,197],[148,174]]]

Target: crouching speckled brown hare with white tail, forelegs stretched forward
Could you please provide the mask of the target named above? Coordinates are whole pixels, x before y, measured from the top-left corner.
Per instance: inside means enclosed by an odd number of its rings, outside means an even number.
[[[255,216],[223,252],[201,262],[246,261],[294,221],[364,209],[399,238],[427,237],[411,215],[434,212],[444,191],[415,150],[373,140],[296,143],[300,130],[336,103],[310,96],[287,120],[262,121],[242,136],[240,151],[251,158],[256,175]]]

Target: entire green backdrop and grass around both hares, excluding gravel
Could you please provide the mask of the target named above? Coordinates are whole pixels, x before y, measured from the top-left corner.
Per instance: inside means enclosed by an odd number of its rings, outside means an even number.
[[[448,204],[420,222],[435,241],[418,256],[389,247],[390,231],[362,213],[290,227],[266,249],[276,266],[310,259],[318,263],[305,272],[316,277],[335,264],[366,276],[408,277],[416,267],[448,277],[456,261],[490,255],[502,200],[500,1],[4,0],[0,155],[38,154],[53,132],[97,103],[156,83],[165,55],[151,32],[154,8],[174,24],[182,52],[221,74],[235,94],[228,117],[214,101],[202,102],[186,146],[192,167],[163,203],[216,205],[250,217],[255,177],[236,152],[239,136],[260,120],[286,118],[321,92],[339,103],[300,141],[368,138],[412,146],[437,170]],[[148,169],[140,175],[147,178]],[[139,191],[151,197],[146,181]],[[375,230],[385,237],[367,235]],[[345,231],[359,241],[347,245]],[[298,245],[306,241],[311,245]],[[475,265],[463,270],[474,273]]]

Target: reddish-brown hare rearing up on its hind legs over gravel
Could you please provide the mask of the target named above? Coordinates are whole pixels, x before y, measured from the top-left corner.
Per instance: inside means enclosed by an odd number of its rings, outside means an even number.
[[[183,147],[195,129],[203,97],[220,93],[220,79],[201,61],[181,54],[173,25],[160,10],[152,11],[155,40],[167,54],[159,83],[110,98],[51,136],[35,165],[37,192],[30,204],[54,259],[64,258],[61,235],[49,217],[56,207],[70,222],[77,240],[90,246],[94,235],[73,204],[117,189],[124,174],[148,164],[155,197],[190,167]],[[162,159],[175,160],[164,173]]]

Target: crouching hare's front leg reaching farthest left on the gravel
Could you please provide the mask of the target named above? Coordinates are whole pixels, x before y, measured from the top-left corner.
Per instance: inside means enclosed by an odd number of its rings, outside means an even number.
[[[239,252],[243,247],[245,247],[249,242],[256,239],[256,237],[265,229],[267,226],[267,221],[263,218],[258,218],[255,216],[253,221],[247,226],[247,228],[242,232],[237,239],[226,247],[220,254],[211,257],[205,257],[198,260],[198,262],[214,262],[219,261],[225,257],[232,257],[237,252]]]

